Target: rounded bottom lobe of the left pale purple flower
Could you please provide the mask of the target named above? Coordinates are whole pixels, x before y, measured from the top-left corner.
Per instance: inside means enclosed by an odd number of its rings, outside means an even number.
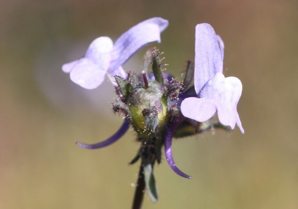
[[[97,88],[105,79],[106,71],[99,69],[90,58],[81,58],[70,72],[70,79],[83,88]]]

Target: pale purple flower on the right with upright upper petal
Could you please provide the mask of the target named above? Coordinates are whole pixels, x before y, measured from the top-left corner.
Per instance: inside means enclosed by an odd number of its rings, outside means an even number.
[[[193,120],[204,122],[216,110],[221,124],[239,126],[244,129],[237,112],[237,103],[242,92],[241,81],[236,77],[223,75],[224,43],[207,23],[195,27],[195,74],[194,83],[197,97],[182,101],[182,114]]]

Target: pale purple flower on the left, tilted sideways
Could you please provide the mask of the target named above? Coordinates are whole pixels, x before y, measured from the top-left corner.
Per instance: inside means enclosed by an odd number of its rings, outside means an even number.
[[[167,26],[167,20],[150,18],[126,31],[114,45],[109,37],[99,37],[90,44],[83,58],[64,64],[62,70],[70,73],[74,83],[87,89],[97,88],[106,74],[110,80],[114,80],[114,75],[125,78],[121,65],[145,44],[160,43],[160,33]]]

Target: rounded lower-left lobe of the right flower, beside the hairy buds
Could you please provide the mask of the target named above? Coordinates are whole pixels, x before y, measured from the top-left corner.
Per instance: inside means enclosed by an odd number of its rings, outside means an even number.
[[[182,101],[181,112],[187,118],[204,122],[214,115],[216,106],[212,100],[189,97]]]

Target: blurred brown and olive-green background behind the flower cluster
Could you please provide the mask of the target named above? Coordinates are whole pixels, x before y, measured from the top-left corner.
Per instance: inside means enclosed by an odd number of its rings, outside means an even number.
[[[243,84],[246,133],[215,131],[173,142],[176,175],[155,168],[159,202],[148,208],[298,208],[298,1],[0,1],[0,208],[130,208],[139,148],[129,131],[89,151],[122,123],[108,82],[72,83],[61,65],[99,36],[116,40],[142,20],[170,21],[162,43],[168,72],[194,58],[194,29],[210,23],[225,43],[226,76]],[[138,71],[145,50],[125,69]]]

